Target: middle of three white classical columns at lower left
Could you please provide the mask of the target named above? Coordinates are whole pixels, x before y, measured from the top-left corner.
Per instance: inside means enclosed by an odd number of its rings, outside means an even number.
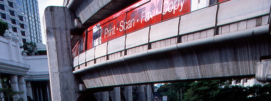
[[[26,95],[26,83],[24,81],[24,76],[18,76],[18,85],[19,85],[19,91],[23,91],[23,94],[20,95],[23,100],[27,101],[27,95]]]

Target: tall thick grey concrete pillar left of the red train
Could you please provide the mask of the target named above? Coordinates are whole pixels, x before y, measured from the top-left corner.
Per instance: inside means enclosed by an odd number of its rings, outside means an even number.
[[[47,7],[43,24],[47,40],[47,56],[52,101],[76,101],[80,96],[73,75],[70,30],[74,29],[73,12],[67,7]]]

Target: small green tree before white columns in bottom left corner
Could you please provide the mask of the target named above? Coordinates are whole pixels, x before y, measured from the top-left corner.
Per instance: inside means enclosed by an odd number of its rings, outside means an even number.
[[[2,87],[0,88],[0,101],[4,98],[11,98],[14,101],[24,101],[23,98],[14,97],[23,94],[23,91],[14,91],[12,87],[7,85],[7,78],[1,79]]]

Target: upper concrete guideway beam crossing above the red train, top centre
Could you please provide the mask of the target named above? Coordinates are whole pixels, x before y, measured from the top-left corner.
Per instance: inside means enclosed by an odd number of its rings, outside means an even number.
[[[64,0],[83,24],[93,25],[139,0]]]

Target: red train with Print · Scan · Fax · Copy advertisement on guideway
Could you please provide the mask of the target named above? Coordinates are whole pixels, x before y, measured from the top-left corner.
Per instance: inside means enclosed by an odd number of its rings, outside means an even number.
[[[165,20],[229,0],[141,0],[90,26],[73,48],[73,57],[110,40]],[[168,29],[170,30],[170,29]]]

